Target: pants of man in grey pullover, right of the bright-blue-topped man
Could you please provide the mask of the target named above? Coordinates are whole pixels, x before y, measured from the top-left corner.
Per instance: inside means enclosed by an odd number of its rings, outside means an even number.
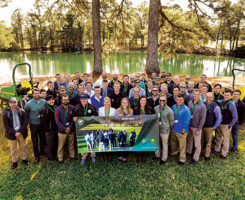
[[[199,135],[196,135],[197,128],[190,127],[189,134],[187,136],[187,153],[192,153],[193,148],[193,139],[195,145],[195,153],[193,155],[193,160],[198,161],[201,154],[201,139],[202,139],[202,131],[200,131]]]

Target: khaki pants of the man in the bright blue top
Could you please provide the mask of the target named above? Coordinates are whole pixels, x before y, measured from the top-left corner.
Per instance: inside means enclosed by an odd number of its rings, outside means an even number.
[[[186,161],[186,137],[187,134],[173,133],[171,137],[171,155],[179,154],[179,160],[181,162]]]

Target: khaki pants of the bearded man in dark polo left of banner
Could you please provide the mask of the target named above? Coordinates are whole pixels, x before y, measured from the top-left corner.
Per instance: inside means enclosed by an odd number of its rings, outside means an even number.
[[[75,148],[74,148],[74,133],[62,134],[58,133],[58,152],[57,156],[59,161],[64,159],[64,146],[66,143],[66,139],[68,142],[68,150],[70,158],[75,157]]]

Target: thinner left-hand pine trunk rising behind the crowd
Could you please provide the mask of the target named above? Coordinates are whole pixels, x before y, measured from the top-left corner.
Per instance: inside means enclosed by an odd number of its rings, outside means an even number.
[[[92,0],[93,41],[94,41],[94,75],[102,73],[102,48],[100,37],[100,0]]]

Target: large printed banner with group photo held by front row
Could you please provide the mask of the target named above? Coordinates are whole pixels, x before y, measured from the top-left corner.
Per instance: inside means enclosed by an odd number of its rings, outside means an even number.
[[[131,117],[78,117],[78,153],[108,151],[157,151],[157,115]]]

